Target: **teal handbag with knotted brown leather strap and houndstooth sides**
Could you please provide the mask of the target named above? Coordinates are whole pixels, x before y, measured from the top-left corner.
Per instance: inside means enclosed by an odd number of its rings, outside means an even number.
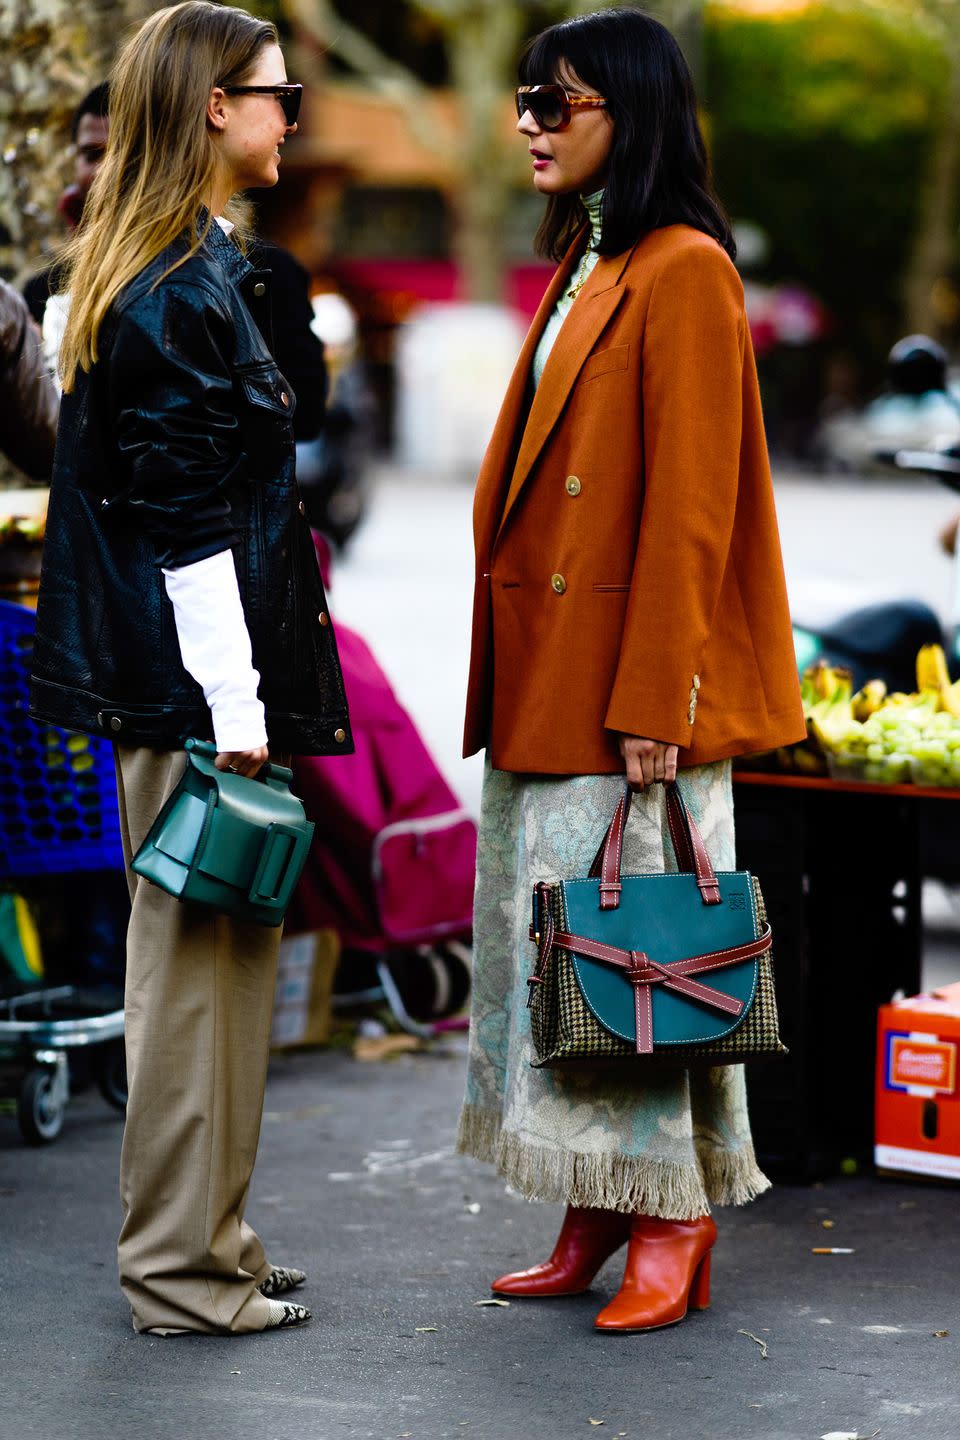
[[[590,874],[534,886],[534,1066],[786,1053],[760,886],[747,871],[717,873],[679,786],[665,798],[676,874],[620,874],[626,789]]]

